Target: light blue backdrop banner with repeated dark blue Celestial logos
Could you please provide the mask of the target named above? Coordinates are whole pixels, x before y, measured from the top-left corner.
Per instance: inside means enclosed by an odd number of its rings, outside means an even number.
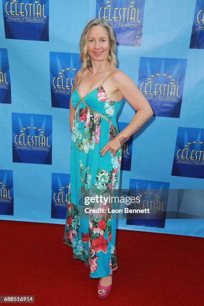
[[[152,219],[117,228],[204,236],[203,12],[204,0],[1,0],[0,219],[65,224],[69,99],[80,35],[97,17],[154,113],[123,144],[120,172],[120,188],[140,196],[130,206]],[[120,130],[134,114],[125,101]]]

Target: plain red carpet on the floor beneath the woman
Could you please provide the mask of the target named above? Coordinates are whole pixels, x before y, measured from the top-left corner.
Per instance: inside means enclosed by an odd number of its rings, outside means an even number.
[[[35,305],[203,304],[203,238],[117,230],[110,295],[62,242],[64,225],[0,221],[0,295],[35,295]]]

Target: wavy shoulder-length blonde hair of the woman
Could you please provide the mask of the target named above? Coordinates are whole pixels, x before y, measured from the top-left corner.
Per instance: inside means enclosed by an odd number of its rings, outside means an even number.
[[[80,37],[79,41],[79,48],[80,48],[80,60],[81,60],[81,70],[85,68],[89,69],[92,67],[90,56],[88,56],[87,51],[87,44],[88,44],[88,33],[90,31],[91,26],[93,25],[102,25],[107,31],[110,43],[110,58],[107,57],[108,61],[110,62],[111,68],[115,68],[117,64],[117,58],[115,56],[115,48],[116,48],[116,38],[112,27],[109,25],[107,21],[100,18],[91,19],[83,29],[83,32]],[[89,57],[89,58],[88,58]]]

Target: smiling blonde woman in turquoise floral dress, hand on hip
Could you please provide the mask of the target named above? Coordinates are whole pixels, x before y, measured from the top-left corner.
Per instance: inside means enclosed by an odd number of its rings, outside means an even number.
[[[100,278],[97,293],[104,298],[117,269],[115,218],[111,213],[92,212],[82,217],[78,191],[89,194],[92,189],[100,194],[119,187],[121,146],[153,112],[134,82],[115,68],[116,39],[105,20],[90,20],[79,45],[82,64],[75,75],[69,112],[70,189],[63,242],[73,248],[74,258],[84,261],[90,277]],[[125,100],[136,113],[119,132],[115,117]]]

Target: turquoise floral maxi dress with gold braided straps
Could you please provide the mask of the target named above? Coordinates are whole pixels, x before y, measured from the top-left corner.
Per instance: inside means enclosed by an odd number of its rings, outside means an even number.
[[[111,72],[97,88],[82,97],[78,91],[82,71],[71,94],[75,113],[63,243],[72,247],[73,258],[81,259],[90,266],[89,276],[94,278],[108,276],[117,269],[116,218],[113,212],[89,212],[83,217],[78,191],[87,194],[90,189],[99,195],[101,190],[119,188],[121,147],[115,156],[109,150],[102,157],[99,154],[100,149],[119,133],[116,115],[124,101],[124,98],[120,101],[109,100],[102,87]],[[99,207],[100,204],[97,205]],[[107,203],[106,206],[111,209],[112,204]]]

